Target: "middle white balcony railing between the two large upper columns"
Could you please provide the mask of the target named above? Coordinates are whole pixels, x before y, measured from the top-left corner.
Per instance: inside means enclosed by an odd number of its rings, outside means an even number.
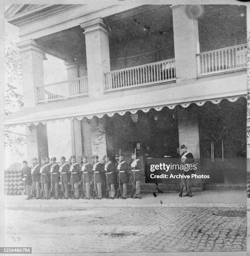
[[[105,73],[106,91],[175,80],[175,61],[169,59]]]

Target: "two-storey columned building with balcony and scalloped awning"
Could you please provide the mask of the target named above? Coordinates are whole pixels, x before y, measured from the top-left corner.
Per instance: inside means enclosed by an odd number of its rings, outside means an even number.
[[[244,5],[12,5],[25,108],[5,125],[26,125],[28,158],[121,149],[128,160],[136,147],[145,163],[185,144],[210,183],[245,184],[246,15]],[[44,84],[46,54],[65,61],[67,81]]]

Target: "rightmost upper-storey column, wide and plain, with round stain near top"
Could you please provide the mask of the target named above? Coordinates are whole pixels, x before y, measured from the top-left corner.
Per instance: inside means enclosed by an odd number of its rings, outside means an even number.
[[[187,5],[172,5],[177,83],[197,77],[198,21],[187,16],[186,8]]]

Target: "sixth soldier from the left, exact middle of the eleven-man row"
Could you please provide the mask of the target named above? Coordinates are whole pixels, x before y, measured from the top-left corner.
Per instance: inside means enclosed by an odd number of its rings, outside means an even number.
[[[71,156],[70,158],[71,165],[70,165],[70,182],[71,182],[71,189],[74,189],[74,197],[73,199],[79,199],[79,181],[81,178],[81,170],[80,164],[76,162],[76,157]]]

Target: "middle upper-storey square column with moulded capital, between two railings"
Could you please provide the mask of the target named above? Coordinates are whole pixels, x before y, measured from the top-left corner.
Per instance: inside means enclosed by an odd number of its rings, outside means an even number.
[[[101,18],[81,23],[86,41],[89,97],[99,97],[105,90],[105,72],[110,71],[109,33]]]

